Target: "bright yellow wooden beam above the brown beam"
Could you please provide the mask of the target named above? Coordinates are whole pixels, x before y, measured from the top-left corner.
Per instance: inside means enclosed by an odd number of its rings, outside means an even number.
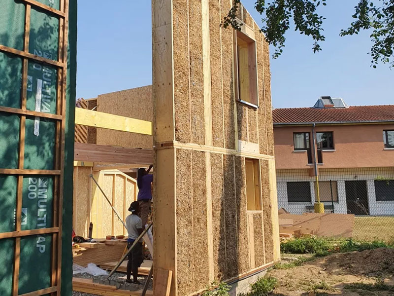
[[[152,135],[152,122],[82,108],[75,108],[75,124]]]

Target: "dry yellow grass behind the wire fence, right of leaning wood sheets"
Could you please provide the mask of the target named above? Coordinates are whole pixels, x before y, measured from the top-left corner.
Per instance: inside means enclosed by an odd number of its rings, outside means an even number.
[[[394,242],[394,217],[355,217],[353,238]]]

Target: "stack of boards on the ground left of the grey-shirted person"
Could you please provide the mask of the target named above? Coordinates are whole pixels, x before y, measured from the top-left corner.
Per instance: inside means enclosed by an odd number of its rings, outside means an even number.
[[[123,240],[105,240],[105,243],[80,243],[78,245],[72,248],[74,263],[86,267],[88,263],[100,265],[119,260],[127,243]]]

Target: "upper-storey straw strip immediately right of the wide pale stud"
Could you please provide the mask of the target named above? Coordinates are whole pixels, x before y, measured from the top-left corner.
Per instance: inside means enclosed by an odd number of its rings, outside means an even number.
[[[223,89],[220,34],[220,1],[209,1],[209,38],[211,53],[212,141],[223,147]]]

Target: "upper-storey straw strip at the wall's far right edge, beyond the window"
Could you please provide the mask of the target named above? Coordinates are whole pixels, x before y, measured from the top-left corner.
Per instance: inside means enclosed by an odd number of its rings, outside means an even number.
[[[271,72],[269,68],[269,47],[263,41],[264,52],[264,89],[265,89],[265,121],[267,128],[268,154],[274,155],[274,132],[272,126],[272,104],[271,104]]]

